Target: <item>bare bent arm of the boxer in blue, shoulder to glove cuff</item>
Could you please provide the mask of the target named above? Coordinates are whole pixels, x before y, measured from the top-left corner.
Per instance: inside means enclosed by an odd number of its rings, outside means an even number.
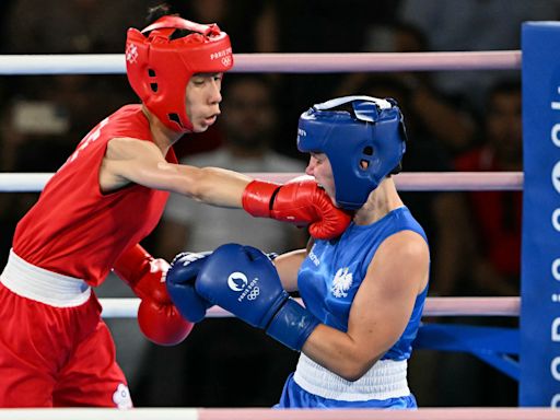
[[[302,351],[348,381],[360,378],[402,335],[428,282],[429,252],[411,231],[385,240],[350,310],[348,331],[319,324]]]

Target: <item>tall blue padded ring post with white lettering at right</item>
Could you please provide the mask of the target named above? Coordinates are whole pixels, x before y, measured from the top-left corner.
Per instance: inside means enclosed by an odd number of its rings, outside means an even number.
[[[560,22],[522,27],[520,406],[560,407]]]

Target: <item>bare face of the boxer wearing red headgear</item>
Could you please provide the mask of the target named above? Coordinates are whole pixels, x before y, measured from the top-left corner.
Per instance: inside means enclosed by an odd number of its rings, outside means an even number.
[[[196,73],[190,78],[185,106],[194,132],[206,131],[220,115],[222,77],[223,73]]]

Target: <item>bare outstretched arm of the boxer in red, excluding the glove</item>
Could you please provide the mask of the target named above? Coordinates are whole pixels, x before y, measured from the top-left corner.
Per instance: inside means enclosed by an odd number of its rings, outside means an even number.
[[[100,172],[104,192],[135,183],[232,208],[242,207],[243,191],[250,180],[233,171],[168,163],[154,143],[126,138],[109,141]]]

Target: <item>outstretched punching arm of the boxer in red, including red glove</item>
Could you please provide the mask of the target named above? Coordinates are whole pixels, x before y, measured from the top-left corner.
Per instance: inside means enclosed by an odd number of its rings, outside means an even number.
[[[152,142],[113,139],[100,173],[101,189],[108,192],[130,183],[208,205],[244,208],[255,217],[310,225],[310,233],[317,238],[337,237],[350,223],[350,215],[334,206],[314,179],[278,185],[218,167],[173,164]]]

